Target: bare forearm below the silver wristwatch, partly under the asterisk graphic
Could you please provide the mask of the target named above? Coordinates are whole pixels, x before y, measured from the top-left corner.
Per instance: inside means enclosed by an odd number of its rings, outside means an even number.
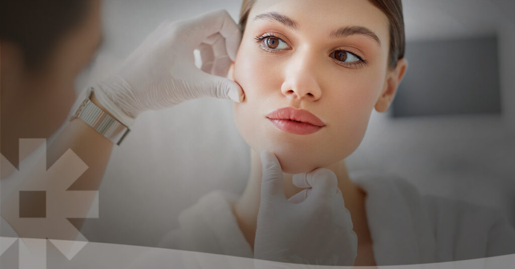
[[[100,109],[103,108],[96,102],[94,96],[90,96],[90,100]],[[68,149],[76,156],[65,154]],[[67,122],[65,128],[46,151],[47,169],[53,165],[54,167],[46,172],[40,171],[18,178],[18,186],[11,191],[2,190],[2,217],[20,237],[74,240],[78,236],[76,230],[52,227],[62,225],[62,217],[71,217],[76,218],[71,219],[72,223],[80,228],[83,219],[77,218],[88,216],[94,204],[95,195],[87,192],[68,192],[68,190],[98,190],[112,149],[111,140],[81,119],[75,118]],[[77,163],[77,157],[83,164]],[[46,202],[41,200],[40,195],[22,196],[22,190],[44,190],[46,198],[43,196],[43,199]],[[41,203],[46,203],[46,206],[39,206]],[[26,206],[22,209],[21,205]],[[38,218],[36,216],[46,217],[41,219],[43,223],[38,219],[33,219],[34,221],[27,219]]]

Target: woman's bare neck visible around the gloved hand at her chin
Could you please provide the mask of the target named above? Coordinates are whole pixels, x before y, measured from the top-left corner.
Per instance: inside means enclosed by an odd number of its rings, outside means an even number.
[[[261,190],[261,178],[262,178],[262,166],[260,153],[250,150],[250,175],[241,198],[233,205],[233,212],[238,221],[239,227],[242,229],[245,238],[249,242],[250,246],[254,245],[256,221],[258,218],[258,210],[260,205],[260,190]],[[326,166],[332,170],[338,178],[338,188],[344,197],[345,207],[350,211],[352,221],[354,225],[354,231],[360,238],[369,238],[368,236],[368,223],[366,222],[365,216],[365,195],[366,193],[354,184],[347,172],[345,160],[341,160],[338,163]],[[284,178],[284,192],[286,198],[290,198],[294,194],[300,192],[302,189],[293,185],[291,177],[293,174],[283,173]],[[367,229],[361,231],[363,225],[366,225]]]

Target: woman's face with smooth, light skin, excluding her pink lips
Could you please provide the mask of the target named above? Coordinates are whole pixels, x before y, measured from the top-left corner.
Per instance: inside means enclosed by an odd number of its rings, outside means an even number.
[[[374,106],[385,111],[397,88],[388,90],[388,49],[388,19],[368,1],[256,1],[231,66],[245,91],[233,106],[239,132],[256,152],[276,154],[285,173],[346,158]],[[325,126],[283,131],[267,118],[283,107],[311,112]]]

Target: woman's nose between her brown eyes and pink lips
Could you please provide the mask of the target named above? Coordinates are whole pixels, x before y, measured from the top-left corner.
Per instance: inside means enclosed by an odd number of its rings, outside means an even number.
[[[285,80],[281,92],[288,98],[320,99],[322,91],[317,80],[316,59],[308,53],[298,51],[287,65]]]

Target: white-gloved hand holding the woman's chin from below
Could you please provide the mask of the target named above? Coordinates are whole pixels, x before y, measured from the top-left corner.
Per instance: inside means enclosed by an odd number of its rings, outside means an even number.
[[[295,174],[306,188],[286,199],[277,157],[261,153],[263,181],[254,240],[254,258],[289,263],[354,265],[357,236],[337,187],[336,175],[318,168]]]

